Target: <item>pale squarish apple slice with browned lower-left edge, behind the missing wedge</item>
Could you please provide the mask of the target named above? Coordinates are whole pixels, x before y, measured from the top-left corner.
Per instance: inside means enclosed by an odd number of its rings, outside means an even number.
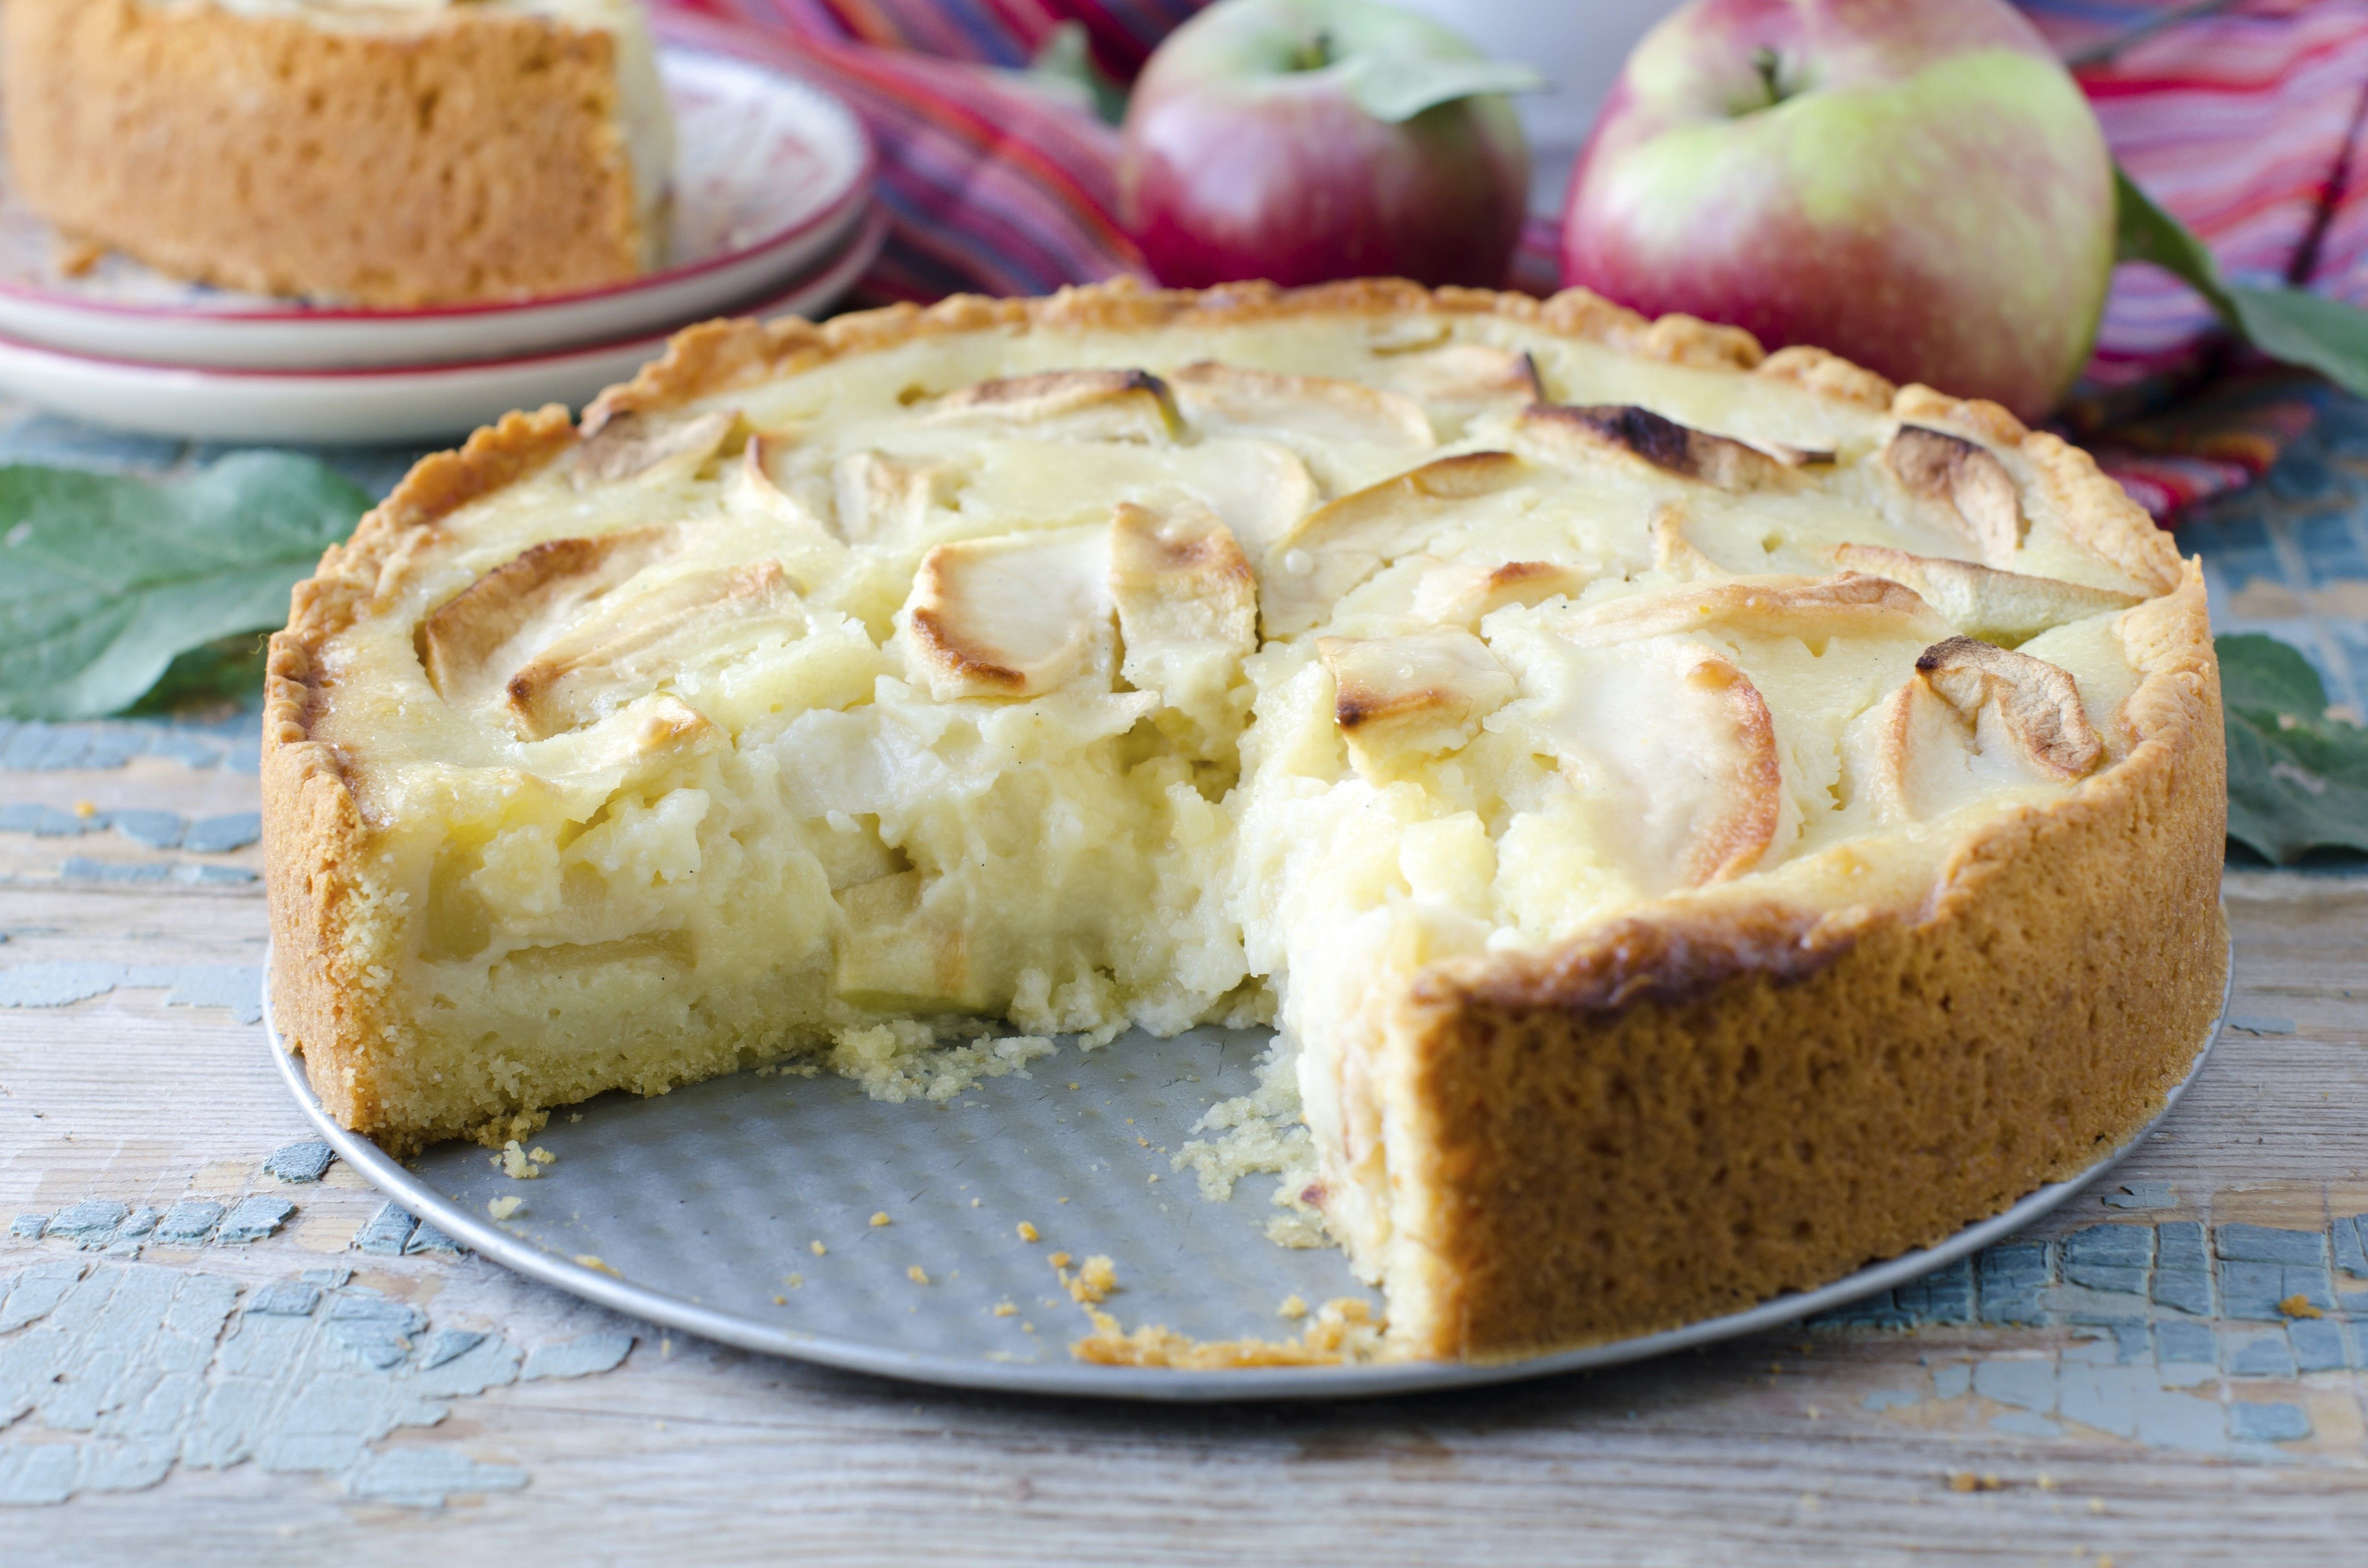
[[[1058,528],[938,545],[897,611],[931,696],[1042,696],[1108,687],[1111,531]]]

